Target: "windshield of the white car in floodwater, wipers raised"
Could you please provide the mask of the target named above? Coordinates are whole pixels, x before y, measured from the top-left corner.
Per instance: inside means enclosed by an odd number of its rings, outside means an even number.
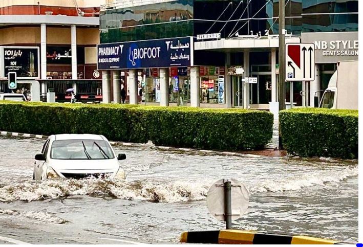
[[[114,159],[111,146],[102,140],[58,140],[52,143],[51,159],[108,160]]]

